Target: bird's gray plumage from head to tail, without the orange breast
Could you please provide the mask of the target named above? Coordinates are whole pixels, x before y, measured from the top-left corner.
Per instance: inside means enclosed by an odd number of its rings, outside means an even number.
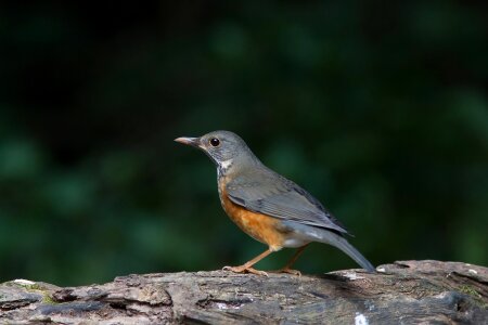
[[[239,135],[215,131],[201,138],[176,141],[198,147],[210,157],[217,166],[219,182],[227,181],[226,194],[233,204],[279,219],[279,231],[285,236],[282,247],[305,247],[310,242],[329,244],[363,269],[375,272],[344,237],[348,234],[344,225],[307,191],[262,165]],[[220,187],[219,193],[226,195]]]

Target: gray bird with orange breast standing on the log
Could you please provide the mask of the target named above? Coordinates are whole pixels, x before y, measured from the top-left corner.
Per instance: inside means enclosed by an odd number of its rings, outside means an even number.
[[[230,219],[268,249],[239,266],[222,270],[268,276],[254,264],[282,248],[297,248],[275,272],[300,275],[292,265],[308,244],[332,245],[370,273],[375,268],[346,239],[345,226],[323,205],[295,182],[266,167],[244,140],[230,131],[213,131],[176,142],[203,151],[217,167],[220,203]]]

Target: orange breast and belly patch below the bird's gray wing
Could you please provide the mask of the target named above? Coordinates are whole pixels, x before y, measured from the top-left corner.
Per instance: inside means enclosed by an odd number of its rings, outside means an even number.
[[[278,230],[280,221],[266,214],[252,212],[231,202],[223,183],[219,182],[220,202],[230,219],[256,240],[267,244],[272,250],[280,250],[285,240],[284,234]]]

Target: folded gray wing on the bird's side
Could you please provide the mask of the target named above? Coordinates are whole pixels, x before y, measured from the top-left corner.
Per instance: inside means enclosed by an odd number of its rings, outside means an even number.
[[[226,190],[234,204],[251,211],[347,234],[313,196],[271,170],[237,177],[227,184]]]

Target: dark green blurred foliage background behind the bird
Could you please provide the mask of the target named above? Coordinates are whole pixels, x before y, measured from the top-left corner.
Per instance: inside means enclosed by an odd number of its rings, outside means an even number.
[[[487,265],[486,22],[486,1],[3,2],[0,282],[262,251],[221,210],[208,158],[172,142],[216,129],[323,202],[373,263]],[[297,268],[356,264],[316,244]]]

